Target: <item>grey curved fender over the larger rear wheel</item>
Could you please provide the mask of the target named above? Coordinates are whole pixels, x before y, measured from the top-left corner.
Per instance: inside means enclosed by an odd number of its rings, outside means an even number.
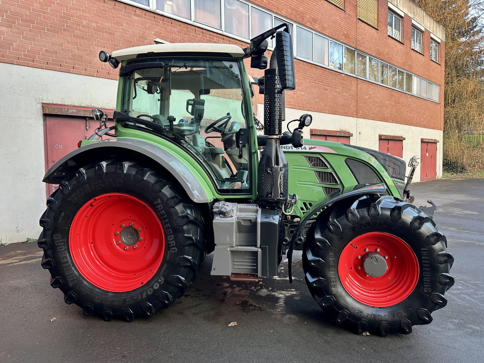
[[[202,178],[197,175],[183,162],[169,151],[152,144],[151,142],[119,137],[109,138],[93,142],[75,151],[69,152],[61,160],[55,163],[45,173],[43,181],[46,183],[59,183],[69,174],[74,174],[78,167],[91,163],[93,153],[112,157],[131,151],[144,155],[166,169],[183,187],[188,197],[196,203],[207,203],[213,200],[213,196],[207,193],[208,185],[200,182]],[[203,181],[203,180],[202,180]]]

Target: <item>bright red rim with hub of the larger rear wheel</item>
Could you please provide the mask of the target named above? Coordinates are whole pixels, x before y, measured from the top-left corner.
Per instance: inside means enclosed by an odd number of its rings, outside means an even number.
[[[77,270],[92,285],[131,291],[160,268],[165,234],[157,213],[145,202],[107,193],[79,209],[69,231],[69,249]]]

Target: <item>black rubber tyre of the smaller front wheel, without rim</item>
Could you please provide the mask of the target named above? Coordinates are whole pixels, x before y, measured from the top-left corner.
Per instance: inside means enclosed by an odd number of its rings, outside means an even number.
[[[389,196],[365,197],[332,208],[318,216],[302,254],[307,286],[323,311],[360,334],[367,330],[382,336],[409,334],[413,325],[430,323],[431,313],[447,304],[444,293],[454,285],[449,274],[454,258],[446,251],[446,238],[433,220],[415,206]],[[417,284],[408,298],[394,305],[369,306],[350,296],[342,285],[338,272],[342,250],[368,232],[402,239],[417,257]]]

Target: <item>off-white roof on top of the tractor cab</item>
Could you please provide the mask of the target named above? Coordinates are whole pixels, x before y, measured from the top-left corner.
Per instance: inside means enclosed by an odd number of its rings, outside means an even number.
[[[145,53],[225,53],[234,58],[243,57],[244,52],[238,45],[205,44],[205,43],[168,43],[141,45],[132,48],[115,50],[112,54],[118,61],[136,58]]]

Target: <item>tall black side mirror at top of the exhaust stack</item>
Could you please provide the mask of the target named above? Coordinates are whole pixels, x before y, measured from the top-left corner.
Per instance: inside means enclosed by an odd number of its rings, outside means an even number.
[[[287,31],[283,30],[275,33],[275,51],[282,89],[292,91],[296,88],[296,78],[294,75],[292,39]]]

